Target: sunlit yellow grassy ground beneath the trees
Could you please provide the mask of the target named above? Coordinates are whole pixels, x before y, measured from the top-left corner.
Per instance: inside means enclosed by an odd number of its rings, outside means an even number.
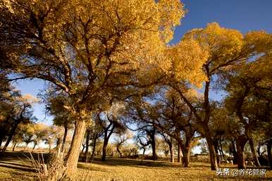
[[[222,165],[221,168],[235,169],[235,166]],[[35,180],[35,170],[23,153],[7,153],[0,159],[1,181]],[[211,171],[209,163],[190,163],[190,168],[182,168],[178,163],[163,161],[141,161],[125,158],[108,158],[106,162],[98,159],[93,163],[78,163],[77,181],[181,181],[181,180],[272,180],[272,171],[260,176],[217,176]]]

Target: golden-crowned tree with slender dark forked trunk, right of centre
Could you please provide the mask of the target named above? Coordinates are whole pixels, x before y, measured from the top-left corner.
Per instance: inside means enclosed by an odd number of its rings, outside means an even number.
[[[217,23],[210,23],[203,29],[194,29],[187,32],[180,44],[174,46],[173,51],[169,51],[169,54],[175,54],[175,56],[171,56],[174,57],[174,63],[170,85],[180,94],[180,97],[185,101],[187,106],[190,107],[198,124],[201,125],[204,130],[203,136],[206,137],[209,146],[211,170],[216,170],[218,166],[214,141],[209,127],[209,120],[211,118],[211,100],[209,93],[213,87],[215,88],[216,84],[214,83],[220,83],[218,80],[222,79],[219,78],[231,73],[231,70],[236,68],[237,65],[245,63],[245,61],[250,60],[250,58],[264,56],[264,52],[267,51],[266,47],[271,47],[269,39],[271,39],[271,35],[268,35],[266,32],[249,32],[243,36],[237,30],[220,27]],[[193,55],[190,53],[192,49],[186,49],[186,47],[190,47],[188,44],[192,44],[191,42],[194,42],[194,51],[199,49],[199,52],[196,52],[197,56],[190,56]],[[195,44],[195,42],[197,43]],[[203,57],[203,60],[199,61],[201,57]],[[204,78],[204,100],[202,101],[200,110],[203,116],[199,113],[199,108],[185,96],[186,90],[188,87],[192,87],[192,85],[180,81],[178,68],[186,66],[186,64],[181,64],[180,66],[176,64],[183,59],[193,60],[196,67],[202,67],[203,72],[199,77]],[[186,77],[187,74],[181,75]],[[190,79],[188,78],[188,80]]]

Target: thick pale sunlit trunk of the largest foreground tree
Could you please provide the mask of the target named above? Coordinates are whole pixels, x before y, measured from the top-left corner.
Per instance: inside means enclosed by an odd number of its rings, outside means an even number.
[[[75,130],[73,139],[70,144],[70,149],[67,154],[67,176],[72,177],[78,166],[78,158],[80,156],[80,146],[82,145],[86,130],[86,123],[84,120],[77,120],[75,122]]]

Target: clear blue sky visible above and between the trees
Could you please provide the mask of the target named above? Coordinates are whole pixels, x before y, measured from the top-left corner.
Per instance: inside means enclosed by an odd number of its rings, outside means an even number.
[[[205,27],[207,23],[217,22],[223,27],[234,28],[246,33],[250,30],[272,32],[272,0],[184,0],[188,13],[182,25],[175,29],[175,38],[171,43],[179,42],[185,32],[193,28]],[[23,94],[37,96],[44,82],[23,80],[15,84]],[[221,94],[211,97],[219,99]],[[35,106],[35,116],[44,119],[44,105]],[[47,118],[50,120],[51,118]]]

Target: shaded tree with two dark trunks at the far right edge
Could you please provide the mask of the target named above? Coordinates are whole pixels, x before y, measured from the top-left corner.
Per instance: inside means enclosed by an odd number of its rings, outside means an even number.
[[[254,143],[254,132],[267,130],[266,125],[271,124],[272,91],[269,82],[271,82],[271,53],[268,51],[264,56],[247,62],[237,70],[230,77],[226,87],[229,94],[225,100],[228,110],[236,113],[243,126],[243,131],[237,138],[239,168],[245,168],[243,151],[247,142],[252,150],[255,165],[260,166]],[[267,138],[270,139],[270,137],[271,134],[268,134]]]

